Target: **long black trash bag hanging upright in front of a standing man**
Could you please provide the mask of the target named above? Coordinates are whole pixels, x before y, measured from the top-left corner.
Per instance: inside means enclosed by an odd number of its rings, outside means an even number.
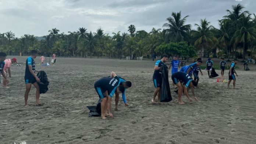
[[[170,84],[168,79],[168,68],[166,65],[161,66],[162,71],[162,87],[161,87],[161,102],[169,102],[173,100],[171,97]]]

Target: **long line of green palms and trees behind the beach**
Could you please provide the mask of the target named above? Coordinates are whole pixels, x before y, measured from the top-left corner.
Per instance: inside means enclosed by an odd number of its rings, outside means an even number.
[[[151,57],[151,55],[179,55],[180,57],[226,57],[243,58],[256,54],[256,15],[243,11],[241,4],[226,10],[227,15],[218,20],[219,28],[201,19],[191,29],[182,17],[181,11],[172,12],[166,19],[163,29],[152,28],[150,32],[128,26],[128,33],[115,32],[110,36],[103,29],[96,32],[79,28],[77,31],[59,33],[53,28],[49,35],[38,40],[34,35],[15,37],[11,31],[0,33],[0,51],[8,55],[29,55],[37,50],[44,55],[56,53],[63,57],[102,57],[122,58],[123,56]]]

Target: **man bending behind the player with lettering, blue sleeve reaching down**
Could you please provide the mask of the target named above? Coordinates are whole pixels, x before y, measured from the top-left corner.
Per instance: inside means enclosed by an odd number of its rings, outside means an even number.
[[[114,78],[116,74],[114,72],[111,72],[110,77]],[[123,79],[121,76],[118,76],[118,78],[120,79],[120,85],[124,86],[124,92],[122,93],[122,99],[124,101],[124,105],[128,106],[127,100],[126,100],[126,96],[125,96],[125,91],[132,86],[132,82],[130,81],[126,81],[125,79]],[[118,101],[119,101],[119,93],[116,91],[115,92],[115,110],[117,111],[117,107],[118,107]]]

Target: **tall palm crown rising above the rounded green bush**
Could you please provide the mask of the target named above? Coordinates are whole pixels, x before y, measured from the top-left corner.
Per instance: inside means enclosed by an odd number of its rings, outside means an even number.
[[[181,18],[181,11],[178,13],[172,12],[172,17],[168,17],[166,21],[168,23],[164,24],[163,27],[167,27],[167,37],[171,42],[182,42],[188,39],[188,31],[191,29],[191,25],[184,25],[186,18]]]

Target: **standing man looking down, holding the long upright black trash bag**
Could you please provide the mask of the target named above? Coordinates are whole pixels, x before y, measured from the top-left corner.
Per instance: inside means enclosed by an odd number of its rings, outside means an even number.
[[[162,86],[162,72],[161,66],[165,65],[164,63],[168,61],[168,55],[163,55],[161,60],[156,61],[154,66],[153,82],[156,90],[154,91],[154,97],[152,103],[155,103],[155,98],[157,95],[157,102],[160,102],[161,97],[161,86]]]

